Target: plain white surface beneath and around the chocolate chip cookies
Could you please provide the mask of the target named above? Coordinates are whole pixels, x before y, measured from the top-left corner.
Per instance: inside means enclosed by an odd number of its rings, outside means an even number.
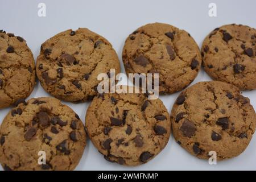
[[[38,16],[38,3],[46,3],[46,17]],[[208,5],[217,5],[217,17],[208,16]],[[13,32],[27,40],[36,58],[40,45],[58,32],[78,27],[87,27],[104,36],[113,44],[121,60],[122,47],[126,37],[146,23],[163,22],[187,30],[195,38],[199,47],[205,36],[222,24],[241,23],[256,27],[256,1],[204,0],[204,1],[148,1],[148,0],[109,0],[109,1],[4,1],[0,0],[0,29]],[[121,61],[122,72],[124,71]],[[208,81],[210,78],[201,69],[192,84]],[[161,96],[168,111],[171,111],[179,93]],[[256,90],[243,92],[256,108]],[[29,98],[49,96],[40,84],[37,84]],[[70,104],[68,106],[79,114],[84,121],[89,103]],[[10,108],[0,110],[0,123]],[[218,162],[210,166],[207,160],[200,160],[188,154],[171,137],[164,150],[150,162],[138,167],[125,167],[106,162],[88,140],[77,170],[225,170],[256,169],[256,136],[251,140],[246,151],[237,158]],[[2,170],[2,168],[0,167]]]

